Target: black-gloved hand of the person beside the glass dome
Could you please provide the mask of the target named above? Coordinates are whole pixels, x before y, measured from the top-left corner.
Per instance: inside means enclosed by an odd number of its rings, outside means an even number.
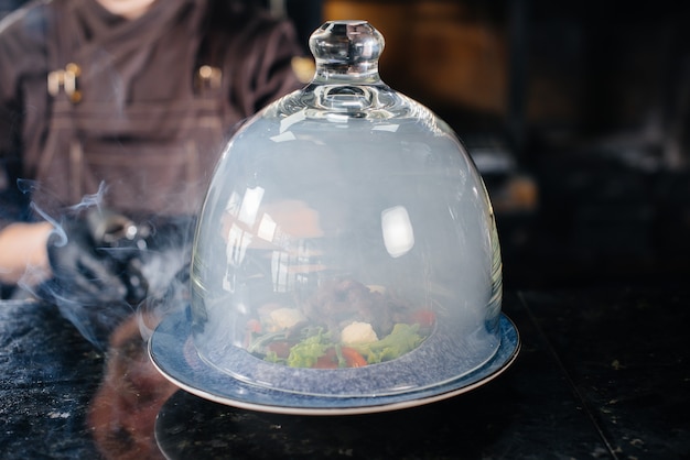
[[[50,295],[83,306],[141,302],[147,282],[137,255],[145,248],[129,244],[144,241],[134,239],[133,228],[126,217],[100,209],[66,218],[47,242]]]

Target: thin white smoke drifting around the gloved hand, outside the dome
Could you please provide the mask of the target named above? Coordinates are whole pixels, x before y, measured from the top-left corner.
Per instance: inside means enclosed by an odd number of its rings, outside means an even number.
[[[23,190],[35,188],[34,183],[24,182]],[[69,216],[84,215],[88,211],[106,213],[104,198],[107,187],[100,184],[98,191],[85,196],[78,204],[66,208],[60,216],[51,216],[35,201],[30,208],[42,219],[50,222],[54,230],[51,243],[65,247],[69,242],[69,232],[64,222]],[[99,251],[111,258],[128,254],[127,266],[136,269],[143,275],[147,292],[143,299],[136,304],[126,299],[98,302],[80,298],[74,292],[63,288],[56,280],[48,280],[37,287],[28,282],[20,282],[23,292],[36,298],[54,304],[62,316],[69,320],[88,341],[99,349],[106,349],[112,331],[132,315],[139,324],[142,339],[148,340],[153,329],[165,315],[184,308],[188,302],[188,266],[192,254],[192,239],[196,223],[195,217],[182,216],[163,218],[151,216],[145,220],[136,221],[145,228],[145,241],[139,241],[131,248],[99,247]],[[127,273],[122,273],[127,276]],[[25,275],[26,280],[31,276]],[[98,280],[93,280],[98,284]]]

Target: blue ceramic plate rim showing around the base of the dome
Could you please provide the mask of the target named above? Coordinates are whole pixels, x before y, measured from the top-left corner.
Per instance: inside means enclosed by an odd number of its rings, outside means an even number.
[[[423,390],[367,397],[304,395],[241,382],[208,365],[198,357],[184,314],[163,319],[149,341],[149,355],[161,374],[172,383],[209,401],[278,414],[346,415],[419,406],[468,392],[505,371],[515,361],[519,348],[520,339],[515,325],[502,314],[500,346],[493,358],[479,369]]]

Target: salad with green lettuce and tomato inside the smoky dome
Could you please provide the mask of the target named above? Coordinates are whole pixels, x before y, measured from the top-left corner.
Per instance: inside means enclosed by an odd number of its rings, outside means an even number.
[[[433,311],[401,302],[381,286],[331,281],[299,305],[267,304],[247,324],[248,351],[292,368],[360,368],[418,348]]]

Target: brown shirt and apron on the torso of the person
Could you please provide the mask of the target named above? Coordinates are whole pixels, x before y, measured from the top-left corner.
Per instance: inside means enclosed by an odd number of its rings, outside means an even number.
[[[194,213],[234,127],[299,87],[300,53],[291,24],[228,0],[161,0],[132,21],[32,2],[0,25],[6,186],[52,217],[93,200]]]

